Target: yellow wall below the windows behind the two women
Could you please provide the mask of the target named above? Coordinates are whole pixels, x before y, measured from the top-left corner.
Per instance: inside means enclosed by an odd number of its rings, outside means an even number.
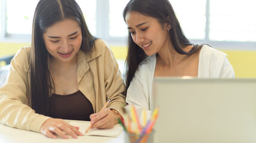
[[[0,43],[0,57],[15,54],[20,47],[30,43]],[[125,46],[111,46],[117,59],[125,59]],[[228,60],[234,68],[236,77],[256,77],[256,51],[221,50],[228,54]]]

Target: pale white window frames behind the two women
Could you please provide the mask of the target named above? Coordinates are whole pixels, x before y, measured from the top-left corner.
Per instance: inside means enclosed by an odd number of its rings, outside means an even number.
[[[31,35],[9,34],[7,33],[7,0],[1,1],[1,33],[0,42],[31,42]],[[109,35],[109,0],[97,1],[96,34],[98,38],[104,39],[110,45],[127,45],[127,36],[115,37]],[[206,43],[217,49],[235,49],[235,50],[256,50],[256,42],[236,42],[236,41],[210,41],[209,39],[209,18],[210,18],[210,0],[206,0],[206,31],[205,38],[189,39],[192,43]]]

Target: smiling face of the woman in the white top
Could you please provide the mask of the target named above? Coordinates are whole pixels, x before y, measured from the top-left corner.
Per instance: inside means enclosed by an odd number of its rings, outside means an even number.
[[[161,24],[156,18],[135,11],[127,13],[125,21],[133,41],[147,55],[156,54],[164,47],[168,48],[170,35],[167,23]]]

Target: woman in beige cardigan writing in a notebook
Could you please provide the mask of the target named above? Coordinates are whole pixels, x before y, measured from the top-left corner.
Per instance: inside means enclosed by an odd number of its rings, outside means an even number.
[[[0,88],[0,122],[77,138],[82,133],[62,119],[91,118],[92,128],[113,128],[126,105],[124,91],[112,51],[91,35],[76,1],[41,0],[32,45],[17,52]]]

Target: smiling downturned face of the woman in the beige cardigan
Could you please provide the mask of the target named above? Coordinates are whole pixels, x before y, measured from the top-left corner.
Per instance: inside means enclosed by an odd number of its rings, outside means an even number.
[[[76,57],[82,43],[79,24],[72,19],[59,21],[43,34],[46,49],[55,61],[69,62]]]

